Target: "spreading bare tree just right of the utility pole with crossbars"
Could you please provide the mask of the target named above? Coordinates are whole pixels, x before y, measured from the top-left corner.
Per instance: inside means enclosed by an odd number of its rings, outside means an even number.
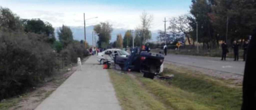
[[[175,34],[184,34],[187,37],[189,45],[191,45],[189,32],[192,31],[192,27],[189,25],[189,19],[188,14],[181,15],[179,17],[172,17],[170,18],[170,26],[168,27],[168,30],[170,30],[171,33]]]

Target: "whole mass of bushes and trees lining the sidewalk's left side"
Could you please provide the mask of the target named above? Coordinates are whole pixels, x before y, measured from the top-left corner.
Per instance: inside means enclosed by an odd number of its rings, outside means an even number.
[[[77,57],[89,55],[83,44],[73,41],[70,31],[69,34],[61,34],[71,39],[63,49],[63,44],[55,41],[52,35],[51,24],[37,20],[40,22],[33,25],[35,20],[32,19],[30,21],[34,27],[46,26],[46,32],[44,28],[26,30],[28,20],[22,22],[24,20],[8,8],[0,7],[0,14],[0,100],[36,86],[46,76],[54,74],[55,68],[59,69],[63,62],[76,63]]]

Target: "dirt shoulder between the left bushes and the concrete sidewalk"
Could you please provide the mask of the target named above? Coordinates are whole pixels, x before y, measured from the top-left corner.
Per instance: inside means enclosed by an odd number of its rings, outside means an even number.
[[[84,61],[87,60],[84,59]],[[33,87],[30,92],[25,94],[2,100],[0,102],[0,110],[33,110],[45,98],[47,98],[53,91],[55,91],[66,79],[69,78],[77,70],[76,65],[70,65],[59,71],[54,75],[45,79],[45,83]]]

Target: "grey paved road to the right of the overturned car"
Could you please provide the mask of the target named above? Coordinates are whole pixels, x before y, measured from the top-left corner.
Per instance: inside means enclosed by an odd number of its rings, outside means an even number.
[[[241,61],[233,61],[233,59],[221,61],[220,59],[221,58],[176,54],[168,54],[165,56],[165,61],[243,75],[245,62],[243,62],[242,59],[240,59]]]

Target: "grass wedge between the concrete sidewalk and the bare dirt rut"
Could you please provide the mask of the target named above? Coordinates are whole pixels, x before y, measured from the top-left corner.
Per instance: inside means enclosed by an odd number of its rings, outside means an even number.
[[[157,101],[142,85],[128,74],[108,70],[116,96],[124,110],[165,110],[163,103]]]

